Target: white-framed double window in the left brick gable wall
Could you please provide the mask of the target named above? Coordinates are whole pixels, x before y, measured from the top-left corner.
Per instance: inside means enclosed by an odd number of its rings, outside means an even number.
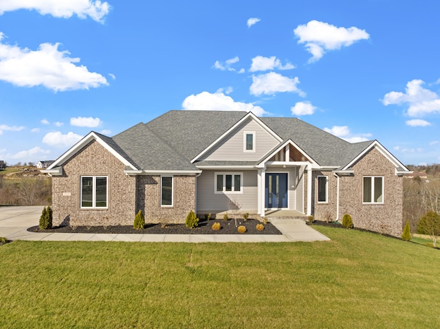
[[[81,208],[107,208],[107,183],[103,176],[81,177]]]

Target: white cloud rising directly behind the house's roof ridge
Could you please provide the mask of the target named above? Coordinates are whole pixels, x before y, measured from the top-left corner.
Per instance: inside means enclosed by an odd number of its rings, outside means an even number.
[[[252,111],[255,115],[268,114],[260,106],[250,103],[235,102],[223,93],[208,93],[202,91],[197,95],[189,95],[182,103],[184,110],[199,111]]]

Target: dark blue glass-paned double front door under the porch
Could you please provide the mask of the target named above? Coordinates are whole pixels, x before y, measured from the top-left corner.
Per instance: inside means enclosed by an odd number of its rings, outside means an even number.
[[[287,208],[287,173],[266,174],[266,208]]]

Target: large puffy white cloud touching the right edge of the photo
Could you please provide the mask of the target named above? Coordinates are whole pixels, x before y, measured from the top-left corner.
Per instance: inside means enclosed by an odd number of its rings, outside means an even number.
[[[391,91],[386,93],[382,103],[390,104],[408,104],[408,116],[422,117],[427,114],[440,113],[440,98],[437,93],[423,88],[423,80],[411,80],[406,84],[405,93],[400,91]]]

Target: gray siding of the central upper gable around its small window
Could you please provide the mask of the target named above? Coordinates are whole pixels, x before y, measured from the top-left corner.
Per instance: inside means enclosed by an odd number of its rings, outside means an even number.
[[[215,129],[215,127],[212,127]],[[244,152],[244,132],[255,133],[255,152]],[[267,131],[265,131],[254,120],[248,119],[236,127],[228,136],[203,155],[200,160],[208,161],[256,161],[261,159],[267,152],[272,150],[279,143]]]

